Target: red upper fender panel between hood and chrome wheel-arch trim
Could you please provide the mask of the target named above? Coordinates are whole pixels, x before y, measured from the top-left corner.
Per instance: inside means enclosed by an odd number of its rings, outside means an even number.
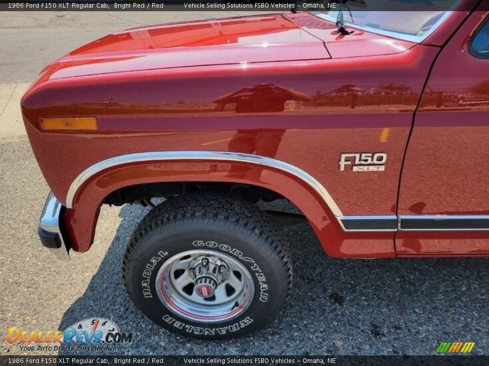
[[[62,202],[73,179],[106,158],[140,151],[230,150],[300,167],[327,187],[345,215],[392,215],[404,146],[426,77],[419,70],[427,73],[436,53],[418,46],[365,59],[151,70],[99,75],[97,83],[89,76],[57,79],[31,89],[23,111],[41,169]],[[265,82],[277,93],[262,96]],[[243,88],[251,90],[247,104],[222,101]],[[296,98],[287,90],[311,100],[285,101]],[[38,118],[43,115],[95,115],[100,132],[42,133]],[[237,133],[264,129],[282,133],[279,146],[233,140]],[[385,141],[384,129],[389,129]],[[361,176],[339,172],[340,153],[359,146],[388,153],[389,169]],[[69,154],[76,150],[83,154]],[[60,161],[67,154],[68,167]],[[377,190],[379,184],[385,189]]]

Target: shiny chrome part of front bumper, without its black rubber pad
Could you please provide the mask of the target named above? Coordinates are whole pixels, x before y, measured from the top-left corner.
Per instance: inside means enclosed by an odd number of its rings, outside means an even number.
[[[60,248],[48,248],[49,251],[59,259],[70,260],[69,251],[66,248],[66,243],[60,230],[61,206],[60,201],[56,199],[52,192],[49,192],[39,219],[39,227],[48,233],[56,234],[61,241]]]

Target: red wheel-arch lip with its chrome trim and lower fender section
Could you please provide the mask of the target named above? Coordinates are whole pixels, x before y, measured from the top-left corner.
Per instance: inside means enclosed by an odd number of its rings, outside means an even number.
[[[86,169],[73,181],[66,197],[63,219],[72,249],[90,249],[100,206],[110,193],[133,185],[179,181],[233,182],[269,189],[303,212],[328,255],[394,256],[393,232],[345,231],[333,198],[303,170],[276,159],[215,151],[130,154]]]

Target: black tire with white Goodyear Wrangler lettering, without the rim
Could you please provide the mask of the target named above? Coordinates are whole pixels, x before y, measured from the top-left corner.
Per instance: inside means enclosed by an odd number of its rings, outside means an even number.
[[[195,321],[160,300],[164,285],[160,280],[156,289],[158,271],[173,256],[196,246],[211,246],[224,253],[216,255],[232,257],[251,274],[247,281],[253,281],[254,294],[250,291],[248,308],[243,306],[246,310],[235,318]],[[276,223],[258,207],[224,195],[193,193],[171,198],[146,215],[127,247],[123,278],[135,305],[155,323],[189,337],[230,339],[262,328],[284,307],[292,286],[292,261]]]

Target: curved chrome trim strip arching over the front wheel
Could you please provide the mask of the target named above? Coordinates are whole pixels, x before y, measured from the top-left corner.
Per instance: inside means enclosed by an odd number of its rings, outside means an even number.
[[[335,200],[333,199],[333,197],[331,197],[329,192],[309,173],[306,173],[304,170],[281,160],[267,158],[259,155],[230,153],[228,151],[151,151],[148,153],[121,155],[103,160],[85,169],[75,178],[75,180],[73,180],[68,190],[68,194],[66,195],[66,207],[72,208],[74,204],[73,200],[78,189],[84,184],[85,181],[87,181],[87,179],[104,169],[121,164],[168,160],[224,160],[239,163],[257,164],[284,171],[300,178],[310,187],[312,187],[317,192],[317,194],[321,196],[324,202],[330,207],[333,215],[338,218],[338,222],[340,222],[341,224],[340,218],[343,216],[343,214],[336,204]]]

